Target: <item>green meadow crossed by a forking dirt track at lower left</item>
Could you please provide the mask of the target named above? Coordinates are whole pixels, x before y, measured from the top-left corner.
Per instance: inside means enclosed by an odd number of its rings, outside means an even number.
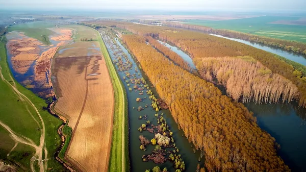
[[[57,129],[62,124],[62,121],[50,115],[46,110],[43,110],[43,107],[47,106],[44,100],[40,99],[30,90],[22,87],[12,78],[7,63],[5,42],[0,42],[0,65],[4,78],[27,96],[37,107],[42,116],[46,130],[45,144],[48,151],[48,168],[51,168],[50,171],[65,171],[64,167],[54,158],[54,154],[61,143],[60,136],[57,134]],[[29,137],[38,144],[41,134],[41,123],[33,107],[31,107],[27,101],[21,101],[12,87],[2,79],[0,79],[0,88],[0,120],[17,134]],[[33,114],[33,117],[31,114]],[[38,123],[35,120],[37,120]],[[16,148],[7,156],[15,145],[15,141],[10,138],[8,132],[3,127],[0,127],[0,138],[2,138],[0,142],[0,159],[15,162],[20,166],[20,171],[29,171],[30,160],[34,155],[34,150],[30,146],[18,143]],[[37,165],[37,163],[35,164]],[[38,169],[36,165],[35,168]]]

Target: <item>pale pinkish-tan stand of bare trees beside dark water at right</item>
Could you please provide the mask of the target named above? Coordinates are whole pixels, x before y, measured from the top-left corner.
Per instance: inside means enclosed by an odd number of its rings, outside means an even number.
[[[244,57],[196,58],[202,78],[226,87],[227,93],[243,103],[278,103],[297,99],[298,88],[285,77],[272,73],[255,59]]]

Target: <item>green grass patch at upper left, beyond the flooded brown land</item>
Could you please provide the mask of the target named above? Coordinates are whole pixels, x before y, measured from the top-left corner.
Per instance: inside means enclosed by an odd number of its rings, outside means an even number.
[[[46,45],[50,44],[49,35],[55,34],[52,30],[49,30],[47,28],[54,28],[54,24],[46,23],[46,22],[28,22],[24,24],[17,24],[13,25],[12,27],[9,27],[8,32],[11,31],[20,31],[24,32],[24,35],[36,38],[43,42]]]

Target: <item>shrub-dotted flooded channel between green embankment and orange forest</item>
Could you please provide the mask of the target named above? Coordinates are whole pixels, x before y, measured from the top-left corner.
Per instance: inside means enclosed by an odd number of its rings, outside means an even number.
[[[155,95],[157,95],[154,87],[152,87],[152,84],[149,82],[148,78],[146,77],[145,73],[139,68],[139,63],[136,63],[136,60],[131,57],[129,52],[125,49],[124,46],[117,40],[117,38],[110,37],[106,34],[101,34],[103,36],[104,42],[107,46],[107,49],[110,53],[110,56],[112,60],[116,61],[118,56],[122,57],[122,62],[126,64],[126,61],[131,62],[131,66],[129,70],[122,71],[118,65],[116,66],[116,69],[119,73],[119,76],[121,80],[124,83],[124,88],[126,89],[127,93],[127,100],[128,100],[128,107],[129,107],[129,151],[130,151],[130,165],[131,165],[131,171],[145,171],[146,169],[152,169],[155,166],[160,166],[161,170],[163,170],[164,167],[168,169],[168,171],[174,172],[175,168],[173,167],[173,163],[167,160],[163,164],[155,164],[152,161],[143,162],[142,161],[142,155],[150,154],[152,150],[154,150],[155,145],[147,145],[146,151],[140,150],[140,140],[139,135],[143,135],[149,140],[154,138],[153,133],[149,133],[148,131],[139,132],[138,128],[145,124],[147,120],[150,120],[151,124],[157,125],[157,117],[155,114],[157,113],[155,110],[152,109],[151,100],[148,99],[149,95],[145,92],[144,89],[143,95],[139,95],[139,91],[136,89],[132,89],[131,91],[129,88],[133,88],[134,84],[131,83],[131,81],[134,78],[127,78],[126,72],[130,73],[130,76],[135,76],[135,79],[141,79],[144,78],[146,80],[146,83],[149,85],[149,89],[154,91]],[[116,46],[116,44],[118,46]],[[121,53],[120,53],[121,52]],[[126,55],[126,59],[123,57]],[[115,63],[116,64],[116,63]],[[130,82],[126,82],[126,80],[130,80]],[[130,86],[128,85],[130,84]],[[141,86],[141,85],[139,85]],[[136,102],[137,98],[141,98],[141,102]],[[146,97],[146,99],[145,99]],[[145,108],[145,105],[148,105],[147,108]],[[137,111],[137,108],[139,106],[142,106],[144,109],[142,111]],[[134,109],[135,108],[135,109]],[[184,136],[184,133],[182,130],[179,130],[177,128],[177,124],[172,118],[172,115],[169,110],[160,110],[158,112],[163,113],[163,117],[167,120],[167,125],[169,125],[170,130],[173,132],[173,138],[175,140],[175,144],[177,148],[179,148],[179,153],[181,154],[185,164],[186,164],[186,170],[185,171],[196,171],[196,167],[198,162],[198,158],[200,156],[200,152],[196,151],[194,153],[194,150],[192,148],[192,144],[190,144],[187,140],[187,138]],[[144,117],[144,115],[147,115],[147,119],[138,119],[139,116]],[[203,167],[203,160],[201,160],[200,164],[201,167]]]

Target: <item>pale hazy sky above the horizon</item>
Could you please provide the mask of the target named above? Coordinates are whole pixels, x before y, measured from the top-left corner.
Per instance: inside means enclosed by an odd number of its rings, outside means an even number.
[[[0,0],[2,9],[305,10],[306,0]],[[281,11],[279,11],[281,12]]]

